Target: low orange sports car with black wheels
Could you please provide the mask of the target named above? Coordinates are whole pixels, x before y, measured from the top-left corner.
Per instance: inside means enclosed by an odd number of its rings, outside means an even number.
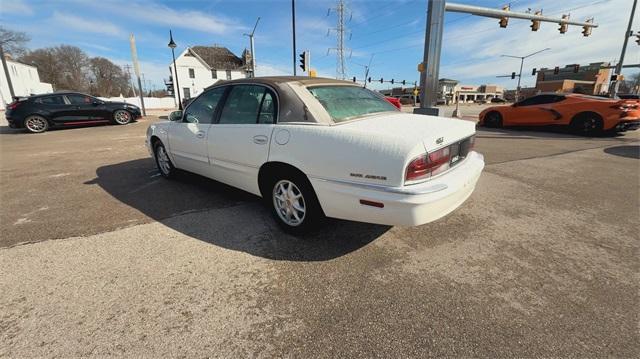
[[[640,101],[616,100],[579,94],[539,94],[510,106],[489,107],[479,125],[570,126],[575,132],[627,131],[640,127]]]

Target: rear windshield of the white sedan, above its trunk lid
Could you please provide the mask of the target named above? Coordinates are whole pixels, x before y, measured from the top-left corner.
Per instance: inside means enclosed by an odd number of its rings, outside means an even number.
[[[335,122],[375,112],[397,111],[384,98],[371,90],[356,86],[318,86],[309,91],[327,110]]]

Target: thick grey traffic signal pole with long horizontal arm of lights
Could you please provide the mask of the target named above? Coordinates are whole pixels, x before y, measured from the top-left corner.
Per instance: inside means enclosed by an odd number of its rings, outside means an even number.
[[[637,0],[634,0],[637,1]],[[476,16],[490,17],[500,19],[500,27],[508,26],[509,18],[531,20],[535,26],[532,30],[536,31],[541,22],[551,22],[560,24],[561,33],[566,32],[568,25],[582,26],[583,29],[591,29],[598,27],[589,21],[573,21],[568,16],[562,18],[552,18],[543,16],[541,12],[515,12],[511,11],[508,6],[502,10],[471,6],[456,3],[447,3],[446,0],[430,0],[427,8],[427,26],[424,40],[424,58],[423,62],[418,65],[420,71],[420,108],[416,108],[414,113],[425,115],[437,115],[438,109],[436,105],[436,96],[438,94],[438,75],[440,68],[440,52],[442,47],[442,33],[444,31],[444,15],[446,11],[471,14]],[[586,32],[586,34],[585,34]],[[590,32],[585,31],[583,34],[588,36]]]

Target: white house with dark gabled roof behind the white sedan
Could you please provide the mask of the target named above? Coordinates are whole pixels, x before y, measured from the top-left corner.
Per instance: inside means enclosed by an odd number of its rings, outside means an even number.
[[[250,75],[251,53],[245,50],[243,58],[234,55],[226,47],[188,47],[176,58],[178,83],[173,81],[176,100],[178,91],[182,100],[198,96],[205,88],[220,80],[235,80]],[[169,66],[175,74],[173,63]],[[180,87],[180,88],[178,88]]]

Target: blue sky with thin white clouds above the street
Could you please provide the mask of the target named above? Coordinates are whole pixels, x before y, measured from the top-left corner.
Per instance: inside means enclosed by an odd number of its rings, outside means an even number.
[[[468,5],[501,8],[505,0],[455,0]],[[570,14],[572,20],[594,17],[599,25],[590,37],[571,26],[560,34],[557,24],[542,23],[537,32],[527,20],[511,19],[506,29],[498,20],[447,13],[440,76],[463,84],[498,84],[515,88],[516,80],[496,76],[518,71],[524,56],[551,48],[526,60],[522,86],[535,85],[533,68],[615,63],[620,56],[632,0],[511,0],[513,11],[542,9],[547,16]],[[319,76],[336,76],[337,0],[296,0],[297,52],[311,52],[311,67]],[[370,76],[396,81],[419,80],[417,65],[424,52],[427,0],[346,0],[345,55],[348,77]],[[331,9],[331,10],[330,10]],[[119,65],[131,63],[129,34],[136,37],[138,58],[146,87],[164,88],[169,77],[169,29],[178,47],[220,45],[238,56],[249,47],[243,36],[255,32],[257,75],[293,73],[290,0],[0,0],[0,24],[24,31],[30,49],[75,45],[89,56],[103,56]],[[640,9],[635,31],[640,31]],[[640,46],[629,40],[625,64],[640,63]],[[297,61],[296,56],[296,61]],[[636,72],[625,71],[626,75]],[[298,71],[300,74],[300,71]],[[373,88],[391,84],[372,83]]]

